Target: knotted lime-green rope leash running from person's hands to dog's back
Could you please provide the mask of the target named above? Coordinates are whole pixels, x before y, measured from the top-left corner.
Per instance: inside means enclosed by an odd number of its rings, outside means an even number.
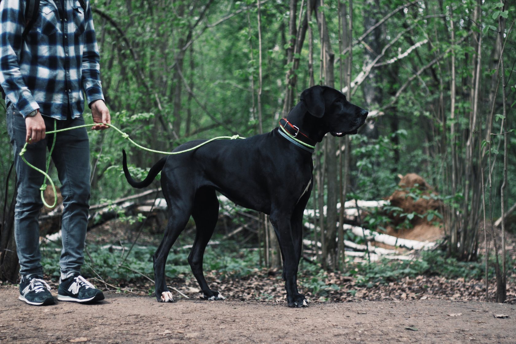
[[[90,127],[90,126],[95,126],[95,125],[98,125],[99,123],[93,123],[93,124],[84,124],[84,125],[78,125],[78,126],[74,126],[74,127],[71,127],[71,128],[65,128],[65,129],[59,129],[59,130],[56,130],[57,129],[57,121],[54,121],[54,130],[52,132],[46,132],[45,134],[57,134],[57,133],[61,133],[61,132],[66,132],[68,130],[72,130],[72,129],[77,129],[77,128],[84,128],[84,127]],[[195,147],[192,147],[192,148],[189,148],[187,150],[184,150],[184,151],[179,151],[179,152],[163,152],[163,151],[155,151],[155,150],[151,150],[149,148],[146,148],[142,145],[139,145],[138,143],[134,142],[128,134],[122,132],[122,130],[120,130],[119,128],[117,128],[115,125],[112,125],[112,124],[107,124],[107,123],[103,123],[105,126],[108,126],[108,127],[112,127],[113,129],[117,130],[117,132],[119,132],[120,134],[122,134],[122,137],[124,139],[128,139],[132,144],[134,144],[135,146],[137,146],[138,148],[144,150],[144,151],[148,151],[148,152],[152,152],[152,153],[159,153],[159,154],[168,154],[168,155],[175,155],[175,154],[181,154],[181,153],[186,153],[186,152],[191,152],[191,151],[195,151],[196,149],[200,148],[201,146],[205,145],[206,143],[209,143],[209,142],[212,142],[212,141],[215,141],[215,140],[224,140],[224,139],[229,139],[229,140],[235,140],[235,139],[245,139],[245,137],[240,137],[239,135],[233,135],[233,136],[219,136],[219,137],[214,137],[213,139],[209,139],[207,141],[204,141],[203,143],[200,143],[198,145],[196,145]],[[30,141],[30,139],[29,139]],[[49,154],[49,158],[47,159],[47,162],[46,162],[46,172],[37,168],[36,166],[34,165],[31,165],[31,163],[29,163],[25,157],[24,157],[24,154],[25,152],[27,151],[27,144],[28,142],[25,143],[25,145],[23,146],[23,149],[22,151],[20,152],[20,156],[22,157],[23,161],[25,161],[25,163],[27,164],[27,166],[29,166],[30,168],[33,168],[35,169],[36,171],[42,173],[45,178],[43,180],[43,185],[39,188],[41,190],[41,200],[43,201],[43,204],[46,206],[46,207],[49,207],[49,208],[53,208],[56,206],[57,204],[57,192],[56,192],[56,187],[54,185],[54,182],[52,181],[52,178],[50,177],[49,175],[49,167],[50,167],[50,159],[52,158],[52,152],[54,151],[54,146],[56,144],[56,135],[54,135],[54,139],[53,139],[53,142],[52,142],[52,148],[50,149],[50,154]],[[54,190],[54,204],[53,205],[49,205],[45,202],[45,198],[44,198],[44,195],[43,195],[43,191],[46,190],[46,179],[49,179],[49,182],[50,184],[52,185],[52,190]]]

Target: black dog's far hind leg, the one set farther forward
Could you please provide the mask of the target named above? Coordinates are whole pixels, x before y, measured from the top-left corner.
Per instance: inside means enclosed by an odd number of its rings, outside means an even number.
[[[193,275],[202,290],[201,299],[204,300],[223,300],[224,297],[217,290],[209,289],[202,269],[204,250],[212,237],[219,215],[219,201],[215,190],[211,187],[204,187],[196,192],[193,201],[192,217],[195,220],[197,233],[193,242],[192,250],[188,256],[188,263]]]

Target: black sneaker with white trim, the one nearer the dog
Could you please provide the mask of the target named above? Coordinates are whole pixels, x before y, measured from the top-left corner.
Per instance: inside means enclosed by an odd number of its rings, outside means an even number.
[[[73,302],[92,302],[104,300],[104,294],[96,289],[83,276],[73,275],[61,280],[57,290],[57,300]]]

